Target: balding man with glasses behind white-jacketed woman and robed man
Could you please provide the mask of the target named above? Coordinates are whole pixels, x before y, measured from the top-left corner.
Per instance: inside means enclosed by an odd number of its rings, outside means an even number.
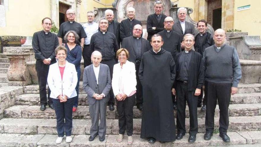
[[[143,98],[142,98],[142,85],[139,80],[139,67],[141,62],[141,56],[143,53],[147,52],[150,48],[149,41],[141,37],[142,34],[142,26],[136,24],[133,27],[133,36],[126,37],[122,41],[122,48],[126,48],[130,56],[128,58],[129,61],[135,64],[136,69],[136,106],[139,110],[143,110]]]

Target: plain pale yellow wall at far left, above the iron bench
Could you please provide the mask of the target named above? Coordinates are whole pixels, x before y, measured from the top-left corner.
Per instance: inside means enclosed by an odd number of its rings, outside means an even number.
[[[9,0],[6,10],[6,27],[0,35],[33,36],[42,29],[42,19],[51,17],[51,0]]]

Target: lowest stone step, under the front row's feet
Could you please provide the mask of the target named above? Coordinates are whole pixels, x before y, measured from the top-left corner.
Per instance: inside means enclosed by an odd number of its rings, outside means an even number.
[[[153,144],[148,143],[146,139],[141,139],[140,135],[133,135],[133,144],[127,144],[127,137],[125,135],[121,143],[117,142],[118,135],[106,135],[105,140],[100,142],[98,137],[93,141],[89,141],[89,135],[72,135],[73,140],[71,143],[66,143],[65,138],[63,142],[59,145],[55,143],[57,135],[21,135],[21,134],[0,134],[0,144],[4,146],[70,146],[70,147],[85,147],[85,146],[99,146],[99,147],[139,147],[139,146],[153,146],[153,147],[197,147],[197,146],[231,146],[231,145],[241,145],[249,146],[252,143],[261,142],[261,132],[260,131],[243,131],[243,132],[228,132],[230,136],[230,143],[225,143],[222,141],[218,134],[214,134],[211,140],[204,140],[203,133],[198,133],[195,143],[188,143],[187,139],[189,137],[186,134],[182,140],[176,140],[169,143],[160,143],[156,141]]]

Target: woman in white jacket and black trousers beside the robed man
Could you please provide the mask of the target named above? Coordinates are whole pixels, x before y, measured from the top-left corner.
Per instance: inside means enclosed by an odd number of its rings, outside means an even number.
[[[119,137],[121,142],[125,128],[128,135],[128,144],[133,142],[133,106],[136,97],[136,70],[134,63],[128,61],[129,52],[125,48],[117,50],[116,58],[120,63],[113,67],[112,89],[116,97],[117,112],[119,114]]]

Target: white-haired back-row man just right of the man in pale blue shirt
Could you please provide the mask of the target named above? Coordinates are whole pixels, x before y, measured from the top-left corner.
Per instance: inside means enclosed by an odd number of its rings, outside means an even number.
[[[107,9],[105,11],[105,16],[106,19],[109,22],[109,26],[108,26],[108,32],[111,32],[115,35],[118,45],[120,47],[120,43],[121,43],[121,39],[120,39],[120,23],[118,23],[117,21],[113,20],[114,18],[114,14],[113,11],[110,9]]]

